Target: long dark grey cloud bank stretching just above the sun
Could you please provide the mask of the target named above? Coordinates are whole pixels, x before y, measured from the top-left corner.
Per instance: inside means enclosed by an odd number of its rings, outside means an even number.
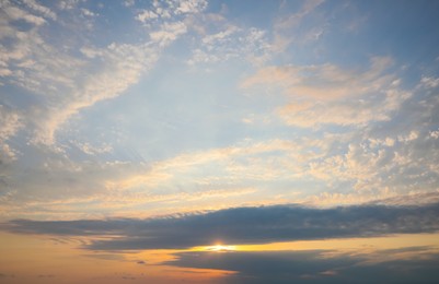
[[[92,250],[167,249],[223,244],[371,237],[439,230],[439,203],[421,206],[357,205],[313,209],[298,205],[234,208],[180,216],[134,220],[10,221],[14,233],[107,236]]]

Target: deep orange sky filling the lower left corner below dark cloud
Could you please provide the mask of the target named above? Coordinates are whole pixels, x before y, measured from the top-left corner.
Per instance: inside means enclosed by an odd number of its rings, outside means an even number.
[[[79,248],[85,238],[5,233],[0,239],[0,273],[11,284],[216,283],[234,273],[165,264],[184,250],[90,251]]]

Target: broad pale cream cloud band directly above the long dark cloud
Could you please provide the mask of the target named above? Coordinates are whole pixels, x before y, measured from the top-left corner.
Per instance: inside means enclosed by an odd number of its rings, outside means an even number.
[[[421,123],[416,119],[398,118],[404,127],[398,131],[392,122],[389,129],[381,125],[383,132],[369,128],[294,140],[244,140],[155,163],[80,163],[46,153],[42,167],[25,177],[15,173],[13,187],[21,190],[2,209],[37,218],[58,218],[57,212],[68,211],[62,218],[71,220],[89,217],[79,210],[85,205],[100,216],[132,216],[145,206],[151,215],[175,212],[176,206],[184,212],[289,202],[327,206],[400,194],[416,204],[423,194],[436,194],[439,173],[438,140],[427,130],[414,130],[411,123]],[[79,151],[96,157],[111,150],[105,143],[73,144],[73,154],[82,156],[89,155]]]

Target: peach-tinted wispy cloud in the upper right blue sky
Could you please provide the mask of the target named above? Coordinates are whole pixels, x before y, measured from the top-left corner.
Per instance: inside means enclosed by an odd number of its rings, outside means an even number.
[[[276,114],[289,126],[323,125],[362,127],[386,121],[412,96],[398,90],[398,79],[389,72],[392,59],[373,57],[363,71],[334,64],[266,67],[245,79],[246,92],[282,93],[287,103]]]

